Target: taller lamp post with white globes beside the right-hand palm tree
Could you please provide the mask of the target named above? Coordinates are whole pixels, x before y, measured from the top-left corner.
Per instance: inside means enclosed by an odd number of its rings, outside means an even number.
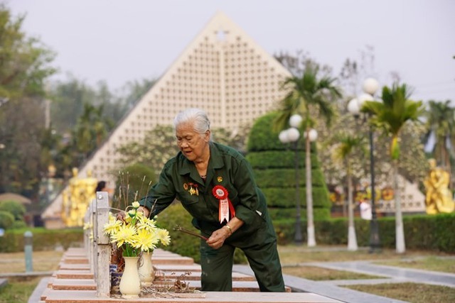
[[[363,94],[360,94],[358,98],[352,99],[348,103],[348,111],[358,118],[360,115],[360,109],[362,108],[363,102],[374,101],[374,95],[379,89],[379,83],[376,79],[368,78],[363,82]],[[364,116],[364,121],[369,116]],[[378,214],[376,213],[376,192],[375,192],[375,158],[374,158],[374,141],[373,141],[373,126],[368,128],[368,137],[370,141],[370,175],[371,175],[371,221],[370,221],[370,253],[374,253],[380,250],[380,238],[379,238],[379,226],[378,226]]]

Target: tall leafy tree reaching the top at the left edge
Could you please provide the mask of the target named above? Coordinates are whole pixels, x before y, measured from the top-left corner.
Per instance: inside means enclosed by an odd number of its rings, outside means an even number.
[[[40,172],[44,82],[54,54],[0,4],[0,192],[33,196]]]

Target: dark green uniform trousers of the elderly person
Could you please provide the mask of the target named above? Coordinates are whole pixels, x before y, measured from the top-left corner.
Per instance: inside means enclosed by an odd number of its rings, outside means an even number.
[[[282,268],[279,262],[277,241],[241,248],[250,267],[255,272],[261,292],[284,292]],[[215,250],[201,241],[200,263],[201,290],[215,292],[232,291],[232,264],[235,246],[224,243]]]

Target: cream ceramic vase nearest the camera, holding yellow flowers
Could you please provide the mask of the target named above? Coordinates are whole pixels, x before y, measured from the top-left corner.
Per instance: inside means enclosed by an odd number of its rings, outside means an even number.
[[[123,257],[125,260],[125,268],[122,279],[120,280],[119,290],[124,299],[132,299],[139,297],[141,292],[141,280],[137,270],[137,261],[139,257]]]

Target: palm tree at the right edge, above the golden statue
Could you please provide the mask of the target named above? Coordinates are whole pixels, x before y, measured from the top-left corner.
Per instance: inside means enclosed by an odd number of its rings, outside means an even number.
[[[435,143],[432,146],[434,158],[443,163],[444,167],[451,172],[451,153],[449,146],[451,139],[455,134],[455,109],[450,106],[451,101],[437,102],[431,100],[428,102],[427,118],[427,144],[431,143],[430,138],[434,136]]]

